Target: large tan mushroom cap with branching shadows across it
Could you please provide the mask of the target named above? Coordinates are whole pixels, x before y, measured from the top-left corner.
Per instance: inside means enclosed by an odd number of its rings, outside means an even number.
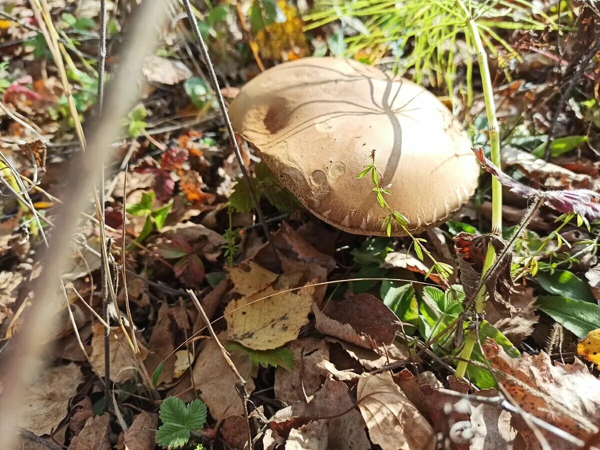
[[[371,162],[392,210],[411,232],[445,222],[477,186],[470,140],[432,93],[356,61],[304,58],[271,68],[232,102],[233,128],[320,219],[344,231],[385,235]],[[393,235],[404,235],[399,226]]]

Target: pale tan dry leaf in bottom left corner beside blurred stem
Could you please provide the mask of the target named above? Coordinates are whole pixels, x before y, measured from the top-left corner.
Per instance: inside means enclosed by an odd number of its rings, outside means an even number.
[[[79,366],[73,363],[44,370],[28,389],[19,426],[38,436],[50,434],[67,415],[69,400],[82,380]]]

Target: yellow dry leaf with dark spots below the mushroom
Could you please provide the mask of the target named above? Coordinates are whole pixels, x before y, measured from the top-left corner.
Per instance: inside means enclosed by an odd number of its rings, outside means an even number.
[[[225,309],[227,337],[256,350],[274,349],[296,339],[308,324],[314,286],[279,293],[302,286],[301,277],[301,272],[283,274],[262,291],[230,301]]]

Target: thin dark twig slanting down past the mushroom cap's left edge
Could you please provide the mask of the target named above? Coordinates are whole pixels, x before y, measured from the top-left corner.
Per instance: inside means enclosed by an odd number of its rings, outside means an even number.
[[[263,229],[265,230],[266,239],[269,241],[269,244],[271,244],[275,259],[278,259],[277,248],[275,247],[275,243],[273,241],[273,238],[271,237],[271,231],[269,231],[269,227],[266,224],[265,215],[263,215],[262,209],[260,209],[259,201],[256,198],[256,194],[250,183],[250,175],[248,174],[248,171],[246,170],[246,167],[244,165],[242,153],[239,150],[238,141],[235,138],[235,133],[233,132],[231,120],[229,120],[229,114],[227,114],[227,107],[225,106],[223,94],[221,94],[221,90],[219,89],[217,74],[215,74],[215,68],[212,65],[211,57],[208,54],[208,49],[206,48],[204,38],[202,37],[202,34],[200,34],[198,22],[194,17],[193,11],[191,10],[190,0],[182,0],[182,2],[185,6],[185,12],[187,13],[188,19],[190,20],[191,28],[194,31],[194,36],[200,44],[200,50],[202,51],[202,56],[206,64],[206,69],[208,70],[209,78],[211,79],[212,89],[215,91],[215,95],[217,96],[217,101],[219,103],[219,107],[221,108],[221,114],[223,114],[223,120],[225,121],[227,133],[229,134],[229,142],[231,143],[233,147],[233,152],[235,153],[235,157],[238,160],[239,170],[241,170],[242,176],[244,177],[246,187],[248,188],[248,194],[250,194],[250,198],[252,200],[252,204],[254,205],[254,209],[256,210],[256,214],[259,216],[260,224],[262,224]]]

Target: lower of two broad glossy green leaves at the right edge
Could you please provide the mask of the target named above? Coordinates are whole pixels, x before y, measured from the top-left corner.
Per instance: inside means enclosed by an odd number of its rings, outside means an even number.
[[[600,328],[600,306],[596,303],[546,295],[538,297],[536,304],[539,310],[545,312],[579,338]]]

